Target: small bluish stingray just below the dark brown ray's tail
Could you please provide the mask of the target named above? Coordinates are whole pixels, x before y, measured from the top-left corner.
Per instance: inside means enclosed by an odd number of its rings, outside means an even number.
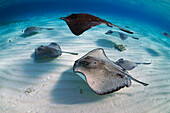
[[[130,36],[130,35],[124,34],[124,33],[122,33],[122,32],[118,32],[118,31],[112,31],[112,30],[107,31],[105,34],[106,34],[106,35],[111,35],[111,34],[113,34],[113,33],[118,33],[118,34],[119,34],[119,37],[120,37],[122,40],[126,40],[128,37],[131,37],[131,38],[136,39],[136,40],[139,39],[139,38],[137,38],[137,37]]]

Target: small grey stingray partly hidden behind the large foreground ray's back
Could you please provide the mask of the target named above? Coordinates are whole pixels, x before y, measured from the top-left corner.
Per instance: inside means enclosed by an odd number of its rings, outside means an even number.
[[[139,64],[151,64],[148,62],[143,62],[143,63],[139,63],[139,62],[132,62],[129,60],[124,60],[123,58],[120,58],[119,60],[116,61],[116,64],[119,65],[120,67],[122,67],[125,70],[132,70],[134,69],[136,66],[138,66]]]

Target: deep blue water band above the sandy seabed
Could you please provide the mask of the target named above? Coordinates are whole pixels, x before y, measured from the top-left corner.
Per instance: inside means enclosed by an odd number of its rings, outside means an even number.
[[[139,1],[136,1],[140,3]],[[164,10],[159,11],[158,8],[155,8],[156,4],[160,4],[162,1],[154,1],[153,7],[147,7],[140,4],[131,4],[127,1],[122,0],[105,0],[105,1],[96,1],[96,0],[22,0],[16,2],[5,2],[0,6],[0,20],[8,19],[18,19],[18,18],[30,18],[33,15],[43,15],[43,14],[57,14],[59,12],[64,12],[70,14],[72,12],[89,12],[89,13],[99,13],[107,15],[118,15],[129,17],[132,19],[140,20],[148,24],[153,24],[155,26],[165,29],[167,32],[170,32],[170,1],[167,0],[167,6],[162,6]],[[167,12],[167,13],[165,13]]]

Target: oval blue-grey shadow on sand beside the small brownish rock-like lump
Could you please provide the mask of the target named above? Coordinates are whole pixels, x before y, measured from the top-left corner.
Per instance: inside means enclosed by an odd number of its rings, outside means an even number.
[[[97,46],[106,47],[106,48],[114,48],[115,45],[116,45],[115,42],[112,42],[112,41],[107,40],[107,39],[98,39],[96,41],[96,44],[97,44]]]

